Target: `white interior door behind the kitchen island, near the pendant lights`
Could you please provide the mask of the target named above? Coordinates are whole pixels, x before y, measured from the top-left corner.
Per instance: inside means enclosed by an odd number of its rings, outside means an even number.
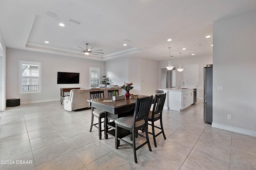
[[[185,87],[198,87],[198,64],[184,65]]]

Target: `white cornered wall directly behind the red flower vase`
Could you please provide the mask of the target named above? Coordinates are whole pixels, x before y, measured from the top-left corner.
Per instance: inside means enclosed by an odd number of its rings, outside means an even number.
[[[138,63],[138,64],[135,64]],[[129,57],[106,61],[106,75],[111,84],[123,85],[124,81],[132,82],[132,94],[154,95],[158,89],[158,61],[142,57]],[[125,91],[122,92],[124,95]]]

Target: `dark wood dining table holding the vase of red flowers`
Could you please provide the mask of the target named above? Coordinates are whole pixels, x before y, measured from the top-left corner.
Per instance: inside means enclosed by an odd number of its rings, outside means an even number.
[[[148,96],[138,95],[138,98],[144,98]],[[103,111],[106,111],[105,121],[104,121],[104,135],[105,139],[108,139],[108,134],[115,136],[115,123],[114,120],[126,115],[132,115],[135,109],[136,98],[128,98],[114,101],[112,97],[104,97],[100,99],[87,100],[90,107],[94,107]],[[109,102],[111,101],[111,102]],[[109,121],[112,120],[112,121]],[[109,127],[111,128],[109,130]],[[129,133],[127,130],[123,129],[120,131],[121,134],[126,135]],[[119,144],[118,144],[119,145]]]

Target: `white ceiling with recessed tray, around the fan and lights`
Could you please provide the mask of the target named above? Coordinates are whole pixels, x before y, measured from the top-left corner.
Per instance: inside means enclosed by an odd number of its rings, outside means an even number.
[[[101,61],[120,57],[163,61],[169,60],[168,47],[174,58],[179,52],[182,57],[212,55],[212,23],[254,9],[256,0],[1,0],[0,29],[9,48]],[[61,22],[65,27],[58,25]],[[208,35],[212,37],[205,38]],[[85,48],[85,43],[93,50],[103,49],[104,55],[70,49]]]

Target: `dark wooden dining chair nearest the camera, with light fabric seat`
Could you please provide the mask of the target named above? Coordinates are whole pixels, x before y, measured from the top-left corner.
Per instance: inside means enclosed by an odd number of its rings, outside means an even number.
[[[137,163],[137,155],[136,155],[136,150],[144,146],[145,144],[148,144],[148,149],[151,150],[149,138],[148,138],[148,114],[150,111],[150,107],[152,105],[152,98],[153,96],[150,97],[145,97],[145,98],[137,98],[136,99],[136,104],[135,104],[135,110],[133,117],[132,116],[127,116],[127,117],[121,117],[115,120],[115,125],[116,125],[116,131],[115,131],[115,142],[116,142],[116,149],[118,149],[118,143],[120,140],[122,142],[125,142],[126,144],[129,144],[130,146],[133,147],[133,153],[134,153],[134,161]],[[126,135],[121,135],[120,132],[121,130],[126,129],[129,130],[130,133]],[[142,134],[138,133],[138,130],[144,128],[145,129],[145,134],[146,136],[143,136]],[[128,136],[132,134],[132,143],[124,140],[123,138],[125,136]],[[136,147],[135,144],[135,137],[136,135],[141,136],[142,138],[146,139],[146,141],[139,146]]]

